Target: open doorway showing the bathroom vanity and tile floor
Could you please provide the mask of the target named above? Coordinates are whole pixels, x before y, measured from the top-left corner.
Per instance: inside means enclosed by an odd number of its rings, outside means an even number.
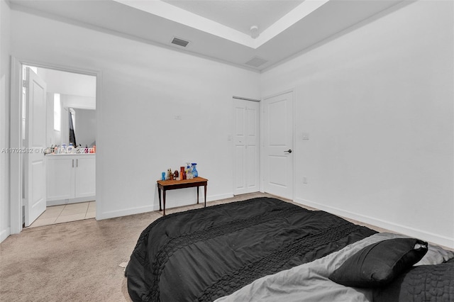
[[[25,64],[21,71],[21,146],[44,154],[21,160],[23,226],[95,218],[96,77]],[[44,208],[35,206],[43,199]]]

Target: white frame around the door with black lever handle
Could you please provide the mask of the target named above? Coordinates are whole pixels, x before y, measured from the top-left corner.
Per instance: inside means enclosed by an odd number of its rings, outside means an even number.
[[[292,111],[292,120],[293,120],[293,125],[292,125],[292,151],[293,151],[293,167],[292,167],[292,198],[291,200],[293,201],[294,196],[295,196],[295,169],[296,163],[297,163],[297,152],[295,152],[295,146],[296,146],[296,95],[295,95],[296,89],[294,87],[282,90],[279,92],[276,92],[274,94],[268,94],[267,96],[262,97],[262,101],[260,101],[260,192],[265,193],[265,99],[270,99],[275,96],[280,96],[281,94],[287,94],[289,92],[292,93],[292,106],[293,106],[293,111]]]

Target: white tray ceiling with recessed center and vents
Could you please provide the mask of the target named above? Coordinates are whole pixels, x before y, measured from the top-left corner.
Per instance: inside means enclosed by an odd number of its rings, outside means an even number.
[[[401,1],[10,0],[13,9],[42,11],[258,71]],[[251,26],[258,26],[258,38],[251,37]],[[173,45],[174,37],[189,45]],[[254,57],[265,63],[246,64]]]

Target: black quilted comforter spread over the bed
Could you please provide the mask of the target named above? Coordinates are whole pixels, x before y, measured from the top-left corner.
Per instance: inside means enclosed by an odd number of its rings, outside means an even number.
[[[214,301],[374,233],[275,198],[170,214],[140,235],[128,292],[133,301]]]

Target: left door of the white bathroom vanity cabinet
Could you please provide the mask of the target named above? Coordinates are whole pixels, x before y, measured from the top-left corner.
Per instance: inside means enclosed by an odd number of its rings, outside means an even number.
[[[48,201],[74,198],[74,160],[72,156],[48,157]]]

